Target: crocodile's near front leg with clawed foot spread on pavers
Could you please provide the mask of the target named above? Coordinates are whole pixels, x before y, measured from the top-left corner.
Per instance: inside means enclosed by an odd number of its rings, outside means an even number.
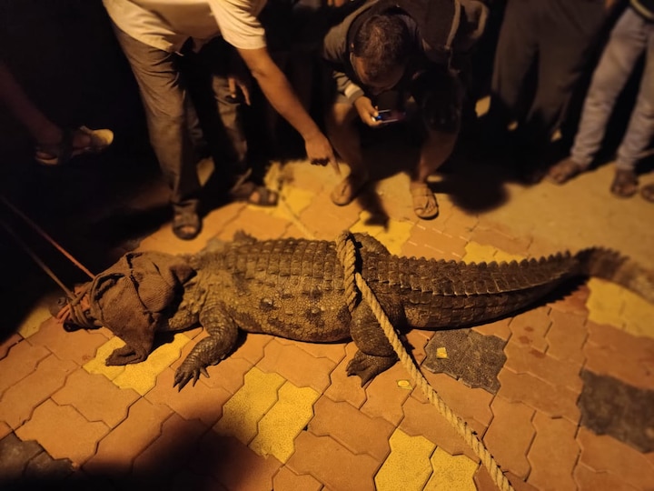
[[[206,367],[217,365],[236,345],[238,326],[223,306],[205,307],[200,313],[200,324],[209,336],[200,340],[177,368],[173,386],[179,386],[178,390],[182,390],[191,379],[194,386],[201,374],[208,377]]]

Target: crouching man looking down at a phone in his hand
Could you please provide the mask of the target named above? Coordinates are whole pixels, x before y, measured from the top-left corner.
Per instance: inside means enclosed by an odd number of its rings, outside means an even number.
[[[348,205],[370,179],[362,156],[358,119],[376,127],[377,98],[387,91],[410,97],[419,108],[424,139],[411,171],[413,210],[434,218],[439,207],[427,178],[456,143],[461,125],[461,69],[481,36],[486,7],[475,0],[367,0],[325,36],[322,57],[331,65],[335,95],[327,133],[351,173],[332,191]],[[402,114],[402,107],[396,114]]]

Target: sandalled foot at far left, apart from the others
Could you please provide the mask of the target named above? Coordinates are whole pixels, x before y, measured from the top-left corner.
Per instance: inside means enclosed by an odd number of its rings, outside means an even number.
[[[74,146],[75,133],[88,136],[88,145]],[[35,148],[35,161],[41,165],[64,165],[73,157],[84,154],[98,154],[114,142],[114,132],[108,129],[92,130],[86,126],[64,129],[60,142],[39,144]]]

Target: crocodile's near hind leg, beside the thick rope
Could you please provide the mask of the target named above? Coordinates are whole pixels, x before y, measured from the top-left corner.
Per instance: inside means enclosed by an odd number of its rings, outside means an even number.
[[[380,303],[393,326],[403,326],[406,323],[404,312],[400,306],[381,300]],[[360,376],[362,386],[365,386],[375,376],[395,365],[398,358],[372,313],[371,307],[365,302],[352,312],[350,332],[359,351],[348,364],[347,374]]]

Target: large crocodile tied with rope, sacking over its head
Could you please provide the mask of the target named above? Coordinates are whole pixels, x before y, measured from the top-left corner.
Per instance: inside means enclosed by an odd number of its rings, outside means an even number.
[[[604,278],[654,303],[651,272],[609,249],[588,248],[574,255],[563,252],[520,262],[466,264],[395,256],[371,235],[348,236],[355,250],[353,266],[399,331],[475,326],[510,316],[542,302],[574,277]],[[347,374],[360,376],[364,386],[391,367],[397,356],[371,306],[361,297],[348,300],[349,280],[339,259],[340,246],[338,241],[257,240],[237,234],[232,242],[193,255],[128,253],[127,263],[134,270],[125,274],[124,268],[114,267],[107,275],[98,275],[82,288],[75,302],[68,301],[69,308],[62,309],[67,315],[60,318],[67,330],[106,326],[121,337],[126,344],[107,358],[107,365],[143,361],[153,349],[155,332],[203,326],[209,336],[193,346],[175,372],[173,386],[179,390],[190,381],[194,385],[201,375],[209,376],[207,367],[233,351],[239,330],[312,343],[352,339],[358,351]],[[135,271],[137,258],[147,259],[149,269]],[[157,296],[155,302],[144,300],[147,295],[139,296],[139,308],[149,307],[141,313],[148,319],[145,323],[138,322],[135,311],[121,317],[132,308],[121,299],[129,298],[148,281],[152,283],[155,272],[163,275],[161,263],[165,260],[176,265],[174,275],[164,275],[167,284],[173,284],[170,295],[163,300]],[[115,280],[121,275],[128,278],[123,286]],[[110,291],[106,281],[99,282],[103,277],[114,278],[109,284],[121,289],[113,302],[103,297]],[[111,316],[109,310],[119,312]],[[118,322],[124,318],[129,320]]]

